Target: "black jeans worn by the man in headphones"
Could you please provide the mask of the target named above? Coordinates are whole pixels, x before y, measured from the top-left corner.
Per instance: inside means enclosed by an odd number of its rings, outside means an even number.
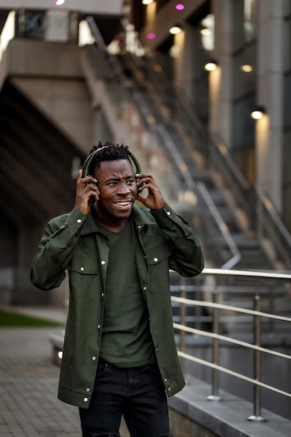
[[[80,408],[83,437],[169,437],[167,396],[156,364],[122,369],[99,360],[89,409]]]

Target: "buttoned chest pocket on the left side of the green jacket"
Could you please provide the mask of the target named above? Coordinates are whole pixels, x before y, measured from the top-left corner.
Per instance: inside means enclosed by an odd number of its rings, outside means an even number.
[[[73,296],[93,298],[99,275],[96,260],[84,257],[73,258],[68,265],[68,275]]]

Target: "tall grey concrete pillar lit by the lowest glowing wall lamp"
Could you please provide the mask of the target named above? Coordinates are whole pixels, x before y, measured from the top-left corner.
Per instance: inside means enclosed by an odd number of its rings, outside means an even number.
[[[267,114],[255,131],[256,186],[282,210],[283,0],[258,2],[257,103]]]

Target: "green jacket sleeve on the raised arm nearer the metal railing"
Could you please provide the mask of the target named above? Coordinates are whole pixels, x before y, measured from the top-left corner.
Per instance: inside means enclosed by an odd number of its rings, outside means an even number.
[[[200,242],[191,225],[176,214],[167,203],[158,211],[151,212],[159,228],[167,236],[172,255],[170,269],[181,276],[195,276],[204,268]]]

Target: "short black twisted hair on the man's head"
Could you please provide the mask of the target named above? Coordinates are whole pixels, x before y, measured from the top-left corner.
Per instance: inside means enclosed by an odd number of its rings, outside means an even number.
[[[94,146],[93,149],[90,150],[90,154],[95,150],[100,150],[96,153],[89,165],[89,174],[94,175],[96,170],[100,168],[100,163],[102,161],[115,161],[116,159],[128,159],[130,156],[130,152],[128,150],[128,146],[124,146],[123,144],[114,144],[106,141],[102,144],[99,141],[98,146]]]

